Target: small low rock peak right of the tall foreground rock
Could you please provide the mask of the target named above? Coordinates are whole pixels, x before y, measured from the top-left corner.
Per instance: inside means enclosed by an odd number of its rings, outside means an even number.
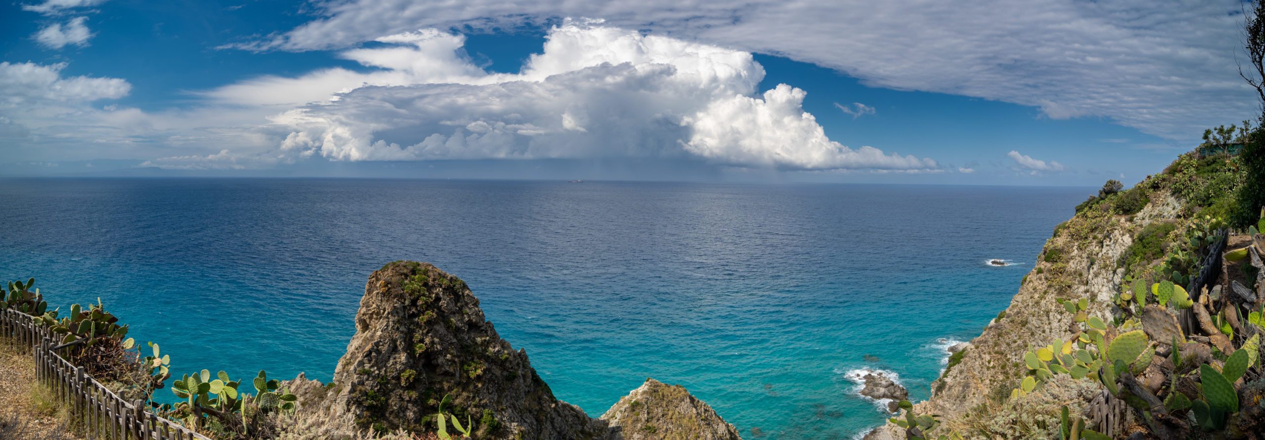
[[[725,422],[703,401],[681,386],[655,379],[620,398],[601,420],[625,440],[700,439],[739,440],[734,425]]]

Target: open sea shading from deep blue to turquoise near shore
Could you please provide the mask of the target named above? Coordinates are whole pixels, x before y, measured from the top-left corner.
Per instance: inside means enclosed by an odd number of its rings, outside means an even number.
[[[926,398],[941,340],[978,335],[1090,192],[0,180],[0,278],[35,277],[51,305],[100,297],[177,374],[329,381],[369,273],[425,260],[591,415],[654,377],[748,439],[849,439],[885,415],[848,373],[889,370]]]

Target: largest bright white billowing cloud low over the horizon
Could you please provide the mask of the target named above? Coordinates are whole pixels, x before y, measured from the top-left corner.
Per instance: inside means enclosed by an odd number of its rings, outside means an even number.
[[[267,89],[319,100],[273,118],[281,150],[342,161],[687,157],[784,169],[932,169],[935,161],[849,148],[803,111],[805,91],[756,94],[750,53],[592,21],[550,30],[521,73],[486,73],[454,56],[462,38],[434,30],[378,38],[342,56],[382,68],[267,77],[209,92]],[[340,90],[349,91],[339,92]],[[323,99],[316,91],[334,94]],[[271,95],[268,95],[271,96]]]

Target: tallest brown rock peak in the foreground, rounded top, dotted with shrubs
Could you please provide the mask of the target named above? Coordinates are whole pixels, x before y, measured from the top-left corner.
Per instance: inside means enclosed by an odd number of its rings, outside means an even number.
[[[484,437],[607,435],[603,422],[554,398],[464,282],[428,263],[393,262],[369,277],[334,383],[330,416],[358,429],[433,430],[452,394],[450,411],[469,415]]]

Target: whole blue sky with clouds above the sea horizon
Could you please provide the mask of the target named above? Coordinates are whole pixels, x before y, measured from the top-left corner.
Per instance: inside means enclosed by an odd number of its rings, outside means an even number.
[[[1256,111],[1235,1],[52,0],[0,20],[8,174],[1094,186]]]

